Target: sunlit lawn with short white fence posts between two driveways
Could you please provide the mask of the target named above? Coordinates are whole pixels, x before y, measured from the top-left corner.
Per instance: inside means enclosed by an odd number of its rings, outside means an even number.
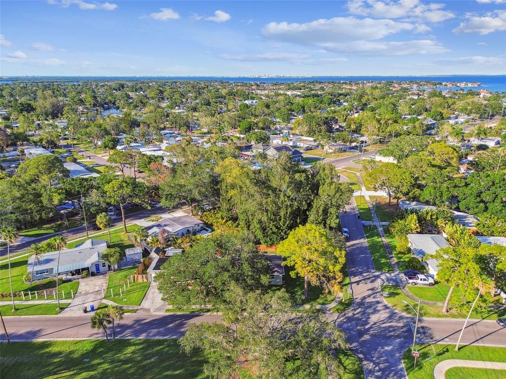
[[[140,305],[146,291],[149,288],[149,281],[135,281],[126,285],[126,292],[124,292],[123,283],[127,283],[127,278],[134,273],[137,267],[127,267],[115,272],[109,272],[109,281],[107,282],[107,290],[105,291],[105,299],[111,300],[120,305]],[[114,296],[111,297],[111,289]],[[122,296],[119,296],[121,289]]]

